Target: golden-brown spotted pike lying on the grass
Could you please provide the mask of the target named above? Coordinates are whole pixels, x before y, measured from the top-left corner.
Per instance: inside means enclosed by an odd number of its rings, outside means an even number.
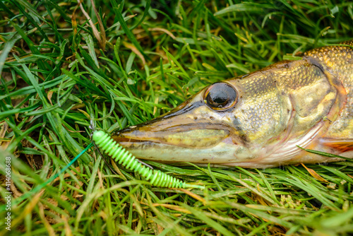
[[[255,168],[340,160],[301,148],[353,158],[353,40],[302,56],[213,83],[112,138],[137,158],[164,163]]]

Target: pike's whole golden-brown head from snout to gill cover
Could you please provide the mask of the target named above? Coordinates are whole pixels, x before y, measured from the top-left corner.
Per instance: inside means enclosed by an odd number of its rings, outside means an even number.
[[[137,158],[164,163],[278,165],[339,112],[344,98],[337,99],[328,76],[308,60],[282,62],[213,83],[161,117],[112,137]]]

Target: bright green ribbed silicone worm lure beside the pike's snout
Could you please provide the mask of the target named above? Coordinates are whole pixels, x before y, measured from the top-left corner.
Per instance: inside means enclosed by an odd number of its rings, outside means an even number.
[[[124,165],[128,170],[138,172],[145,177],[150,183],[156,187],[169,188],[198,188],[205,189],[204,186],[196,184],[186,184],[180,179],[176,179],[160,170],[151,170],[150,168],[138,162],[136,157],[128,153],[125,148],[119,146],[113,138],[110,138],[104,131],[95,131],[92,136],[93,141],[104,153],[112,156],[120,165]]]

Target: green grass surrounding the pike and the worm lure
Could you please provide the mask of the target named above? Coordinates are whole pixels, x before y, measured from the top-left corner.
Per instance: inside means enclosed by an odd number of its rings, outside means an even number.
[[[138,2],[138,1],[136,1]],[[95,6],[95,7],[94,7]],[[0,1],[0,235],[348,235],[353,162],[265,170],[148,162],[208,189],[151,187],[92,148],[205,85],[353,38],[346,1]],[[90,16],[92,21],[85,16]]]

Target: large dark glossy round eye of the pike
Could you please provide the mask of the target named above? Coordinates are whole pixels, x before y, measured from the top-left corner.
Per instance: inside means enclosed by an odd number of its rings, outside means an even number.
[[[213,110],[225,110],[237,102],[237,91],[228,83],[214,83],[205,91],[204,101]]]

